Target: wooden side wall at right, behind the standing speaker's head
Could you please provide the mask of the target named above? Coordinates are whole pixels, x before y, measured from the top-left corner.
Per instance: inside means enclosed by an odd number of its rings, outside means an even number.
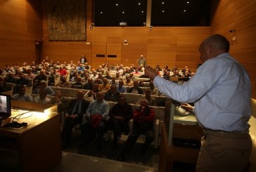
[[[256,81],[256,1],[219,1],[212,20],[212,33],[224,34],[231,42],[231,55],[248,70],[252,83]],[[236,41],[232,41],[236,29]],[[256,98],[256,86],[252,86],[252,97]]]

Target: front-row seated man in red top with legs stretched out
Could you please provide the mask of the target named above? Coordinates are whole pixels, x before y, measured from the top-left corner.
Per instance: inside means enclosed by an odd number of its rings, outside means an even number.
[[[154,140],[153,123],[155,119],[155,112],[152,107],[148,106],[148,100],[143,98],[138,109],[134,110],[134,125],[129,137],[127,138],[120,155],[117,160],[124,161],[124,154],[128,153],[133,145],[136,143],[139,135],[143,134],[146,137],[145,143],[141,147],[141,154],[145,154],[148,146]]]

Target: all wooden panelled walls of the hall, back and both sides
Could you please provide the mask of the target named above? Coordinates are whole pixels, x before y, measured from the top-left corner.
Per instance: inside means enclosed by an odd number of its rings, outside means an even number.
[[[163,67],[185,65],[196,70],[200,41],[210,34],[223,34],[230,41],[236,29],[236,41],[231,41],[231,55],[245,68],[255,83],[256,50],[256,1],[219,1],[211,27],[93,27],[92,3],[87,1],[87,41],[48,41],[46,7],[44,1],[0,1],[0,65],[7,62],[22,64],[35,60],[34,41],[43,41],[43,58],[61,62],[79,60],[82,54],[91,65],[97,67],[110,58],[96,58],[96,54],[117,54],[111,62],[124,66],[136,65],[143,54],[148,65],[157,63]],[[40,8],[40,6],[42,8]],[[42,22],[41,22],[42,21]],[[18,29],[17,29],[18,28]],[[124,39],[128,45],[124,45]],[[18,57],[18,58],[17,58]],[[254,84],[255,85],[255,84]],[[255,95],[255,86],[252,95]]]

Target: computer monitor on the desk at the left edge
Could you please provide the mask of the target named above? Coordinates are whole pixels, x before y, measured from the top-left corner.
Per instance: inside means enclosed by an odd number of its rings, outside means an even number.
[[[11,95],[0,94],[0,119],[11,116]]]

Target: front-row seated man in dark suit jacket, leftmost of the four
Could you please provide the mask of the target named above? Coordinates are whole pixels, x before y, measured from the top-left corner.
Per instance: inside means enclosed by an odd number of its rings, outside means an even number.
[[[68,105],[68,112],[65,113],[65,122],[63,126],[63,131],[61,132],[61,138],[64,140],[63,149],[70,144],[70,135],[72,133],[72,128],[76,124],[82,123],[82,117],[85,112],[87,112],[87,107],[89,102],[84,100],[84,92],[77,91],[77,98],[70,101]]]

